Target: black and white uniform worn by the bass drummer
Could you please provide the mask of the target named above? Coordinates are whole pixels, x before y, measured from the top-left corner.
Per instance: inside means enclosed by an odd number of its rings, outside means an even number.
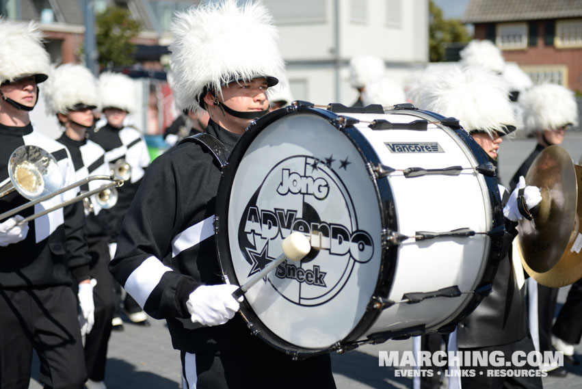
[[[229,150],[239,139],[212,121],[206,132]],[[252,336],[239,314],[214,327],[191,322],[189,294],[222,283],[213,230],[220,176],[198,144],[157,157],[124,219],[111,272],[148,314],[166,319],[184,388],[334,388],[329,356],[293,362]]]

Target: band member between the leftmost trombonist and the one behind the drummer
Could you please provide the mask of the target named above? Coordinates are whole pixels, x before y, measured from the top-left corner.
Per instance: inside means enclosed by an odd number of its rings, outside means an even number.
[[[98,105],[96,80],[81,65],[64,64],[51,72],[45,84],[44,98],[49,113],[56,115],[64,127],[57,142],[70,151],[75,166],[75,180],[88,176],[109,176],[109,163],[105,150],[87,139],[93,129],[93,112]],[[103,180],[93,180],[81,185],[81,191],[90,191],[103,185]],[[85,334],[85,366],[89,379],[88,389],[105,389],[105,362],[107,342],[111,335],[111,319],[114,314],[114,279],[109,273],[109,217],[101,212],[100,204],[91,198],[85,208],[85,237],[89,246],[91,263],[89,273],[96,280],[93,288],[95,322],[89,334]]]

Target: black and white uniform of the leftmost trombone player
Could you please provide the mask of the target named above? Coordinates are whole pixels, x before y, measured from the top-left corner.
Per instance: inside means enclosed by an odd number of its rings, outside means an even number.
[[[68,150],[24,127],[0,124],[0,185],[18,146],[40,146],[58,161],[63,187],[75,182]],[[20,213],[23,217],[74,197],[71,190]],[[16,191],[0,198],[0,212],[25,204]],[[76,202],[29,222],[26,239],[0,247],[0,387],[28,388],[32,350],[44,360],[40,381],[55,388],[82,388],[86,381],[77,299],[70,285],[89,278],[83,205]],[[49,347],[50,345],[50,347]]]

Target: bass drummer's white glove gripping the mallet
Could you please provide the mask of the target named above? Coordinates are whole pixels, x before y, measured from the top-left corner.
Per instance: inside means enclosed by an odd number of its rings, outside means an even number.
[[[233,297],[236,285],[202,285],[190,293],[186,306],[192,323],[220,325],[233,319],[239,310],[239,301]],[[242,297],[239,299],[242,301]]]

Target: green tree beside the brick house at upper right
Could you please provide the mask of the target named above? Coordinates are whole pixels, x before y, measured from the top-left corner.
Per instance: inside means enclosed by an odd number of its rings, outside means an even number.
[[[471,40],[466,27],[460,19],[442,18],[442,10],[429,0],[429,58],[430,62],[445,61],[447,45],[467,43]]]

